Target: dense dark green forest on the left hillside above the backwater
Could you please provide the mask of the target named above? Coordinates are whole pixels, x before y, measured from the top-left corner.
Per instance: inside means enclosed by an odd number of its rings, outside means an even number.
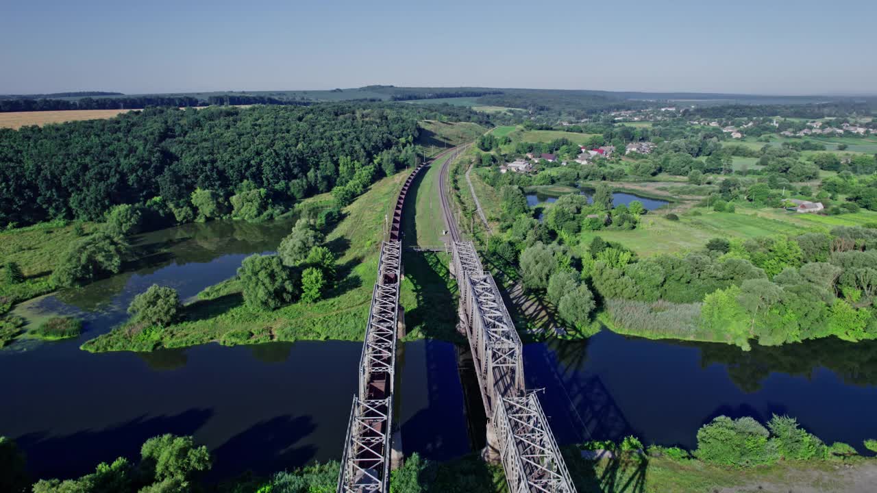
[[[453,113],[485,118],[466,109]],[[415,164],[412,143],[422,118],[446,117],[429,107],[321,104],[147,109],[2,129],[0,225],[96,220],[118,204],[156,200],[157,209],[181,222],[232,209],[259,217],[275,205],[348,185],[341,195],[349,199],[381,174]]]

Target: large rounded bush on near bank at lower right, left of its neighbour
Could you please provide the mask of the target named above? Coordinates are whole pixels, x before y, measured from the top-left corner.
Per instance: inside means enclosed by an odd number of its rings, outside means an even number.
[[[779,459],[770,432],[755,419],[719,416],[697,431],[695,456],[725,466],[748,467]]]

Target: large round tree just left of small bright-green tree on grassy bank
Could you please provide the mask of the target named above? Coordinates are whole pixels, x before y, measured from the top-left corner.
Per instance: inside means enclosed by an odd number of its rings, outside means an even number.
[[[238,269],[246,304],[260,310],[275,310],[295,301],[295,278],[277,255],[250,255]]]

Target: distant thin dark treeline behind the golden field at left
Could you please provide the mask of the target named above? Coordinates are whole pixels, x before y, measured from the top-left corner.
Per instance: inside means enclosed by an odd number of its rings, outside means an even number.
[[[226,95],[199,99],[194,96],[125,96],[82,97],[75,101],[51,98],[22,98],[0,100],[0,112],[9,111],[59,111],[59,110],[142,110],[153,106],[175,108],[200,107],[229,104],[310,104],[294,99],[278,99],[269,96]]]

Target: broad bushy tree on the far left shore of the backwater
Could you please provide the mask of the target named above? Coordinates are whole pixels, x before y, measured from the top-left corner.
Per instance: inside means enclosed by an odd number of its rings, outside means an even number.
[[[106,232],[80,239],[61,255],[52,279],[58,286],[70,287],[118,274],[127,245]]]

